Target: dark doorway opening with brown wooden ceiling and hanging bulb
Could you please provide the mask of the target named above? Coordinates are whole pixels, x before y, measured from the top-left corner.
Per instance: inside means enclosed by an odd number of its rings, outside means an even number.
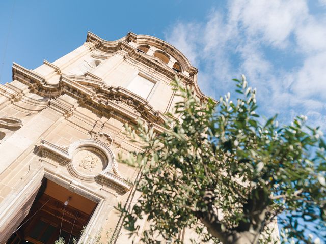
[[[81,236],[97,203],[53,181],[43,179],[29,214],[7,244],[53,244],[63,237],[66,244]]]

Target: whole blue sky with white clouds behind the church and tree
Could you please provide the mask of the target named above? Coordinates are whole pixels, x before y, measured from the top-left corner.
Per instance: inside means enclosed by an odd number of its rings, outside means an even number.
[[[218,99],[247,76],[260,113],[295,115],[326,131],[326,0],[0,1],[0,82],[16,62],[34,69],[82,45],[87,31],[164,39],[199,69]],[[231,93],[232,94],[232,93]]]

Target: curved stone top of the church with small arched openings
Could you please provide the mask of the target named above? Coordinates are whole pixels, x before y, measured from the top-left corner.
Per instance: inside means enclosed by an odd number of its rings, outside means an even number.
[[[129,32],[116,41],[106,41],[88,32],[87,41],[95,44],[96,48],[106,53],[113,53],[123,49],[136,60],[140,60],[147,65],[149,65],[149,62],[156,64],[155,70],[160,70],[169,78],[173,78],[177,74],[177,76],[185,80],[185,83],[194,86],[199,97],[207,100],[197,83],[198,70],[191,65],[182,52],[159,38]],[[148,51],[150,49],[153,50]],[[140,55],[136,55],[137,52]],[[157,52],[158,55],[156,55]]]

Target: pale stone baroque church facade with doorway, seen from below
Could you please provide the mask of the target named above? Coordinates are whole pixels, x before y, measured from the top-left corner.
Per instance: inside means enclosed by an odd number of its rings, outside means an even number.
[[[105,41],[88,33],[55,62],[34,70],[14,63],[12,72],[13,81],[0,85],[0,243],[59,236],[84,243],[106,231],[119,236],[114,243],[131,243],[114,206],[132,206],[140,175],[116,157],[141,145],[123,125],[142,119],[160,131],[179,99],[170,85],[175,75],[205,99],[197,69],[155,37]],[[184,243],[189,237],[180,234]]]

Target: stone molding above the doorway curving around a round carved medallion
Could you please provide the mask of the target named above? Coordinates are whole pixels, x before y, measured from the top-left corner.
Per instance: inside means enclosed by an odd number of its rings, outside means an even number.
[[[104,134],[106,133],[98,133],[98,135]],[[115,185],[116,190],[120,192],[130,190],[131,185],[118,172],[118,165],[114,153],[108,148],[107,144],[100,140],[83,139],[72,143],[70,146],[61,146],[42,139],[39,150],[43,157],[52,158],[62,166],[67,166],[69,173],[73,177],[87,182],[102,182],[107,187]],[[82,160],[74,160],[74,157],[80,151],[84,153],[84,156],[86,154],[86,156],[82,157]],[[100,159],[96,159],[98,157]],[[93,159],[94,162],[92,161]],[[103,168],[93,172],[93,168],[97,166],[96,164],[100,163],[103,164]],[[84,168],[84,170],[80,170],[80,168]]]

